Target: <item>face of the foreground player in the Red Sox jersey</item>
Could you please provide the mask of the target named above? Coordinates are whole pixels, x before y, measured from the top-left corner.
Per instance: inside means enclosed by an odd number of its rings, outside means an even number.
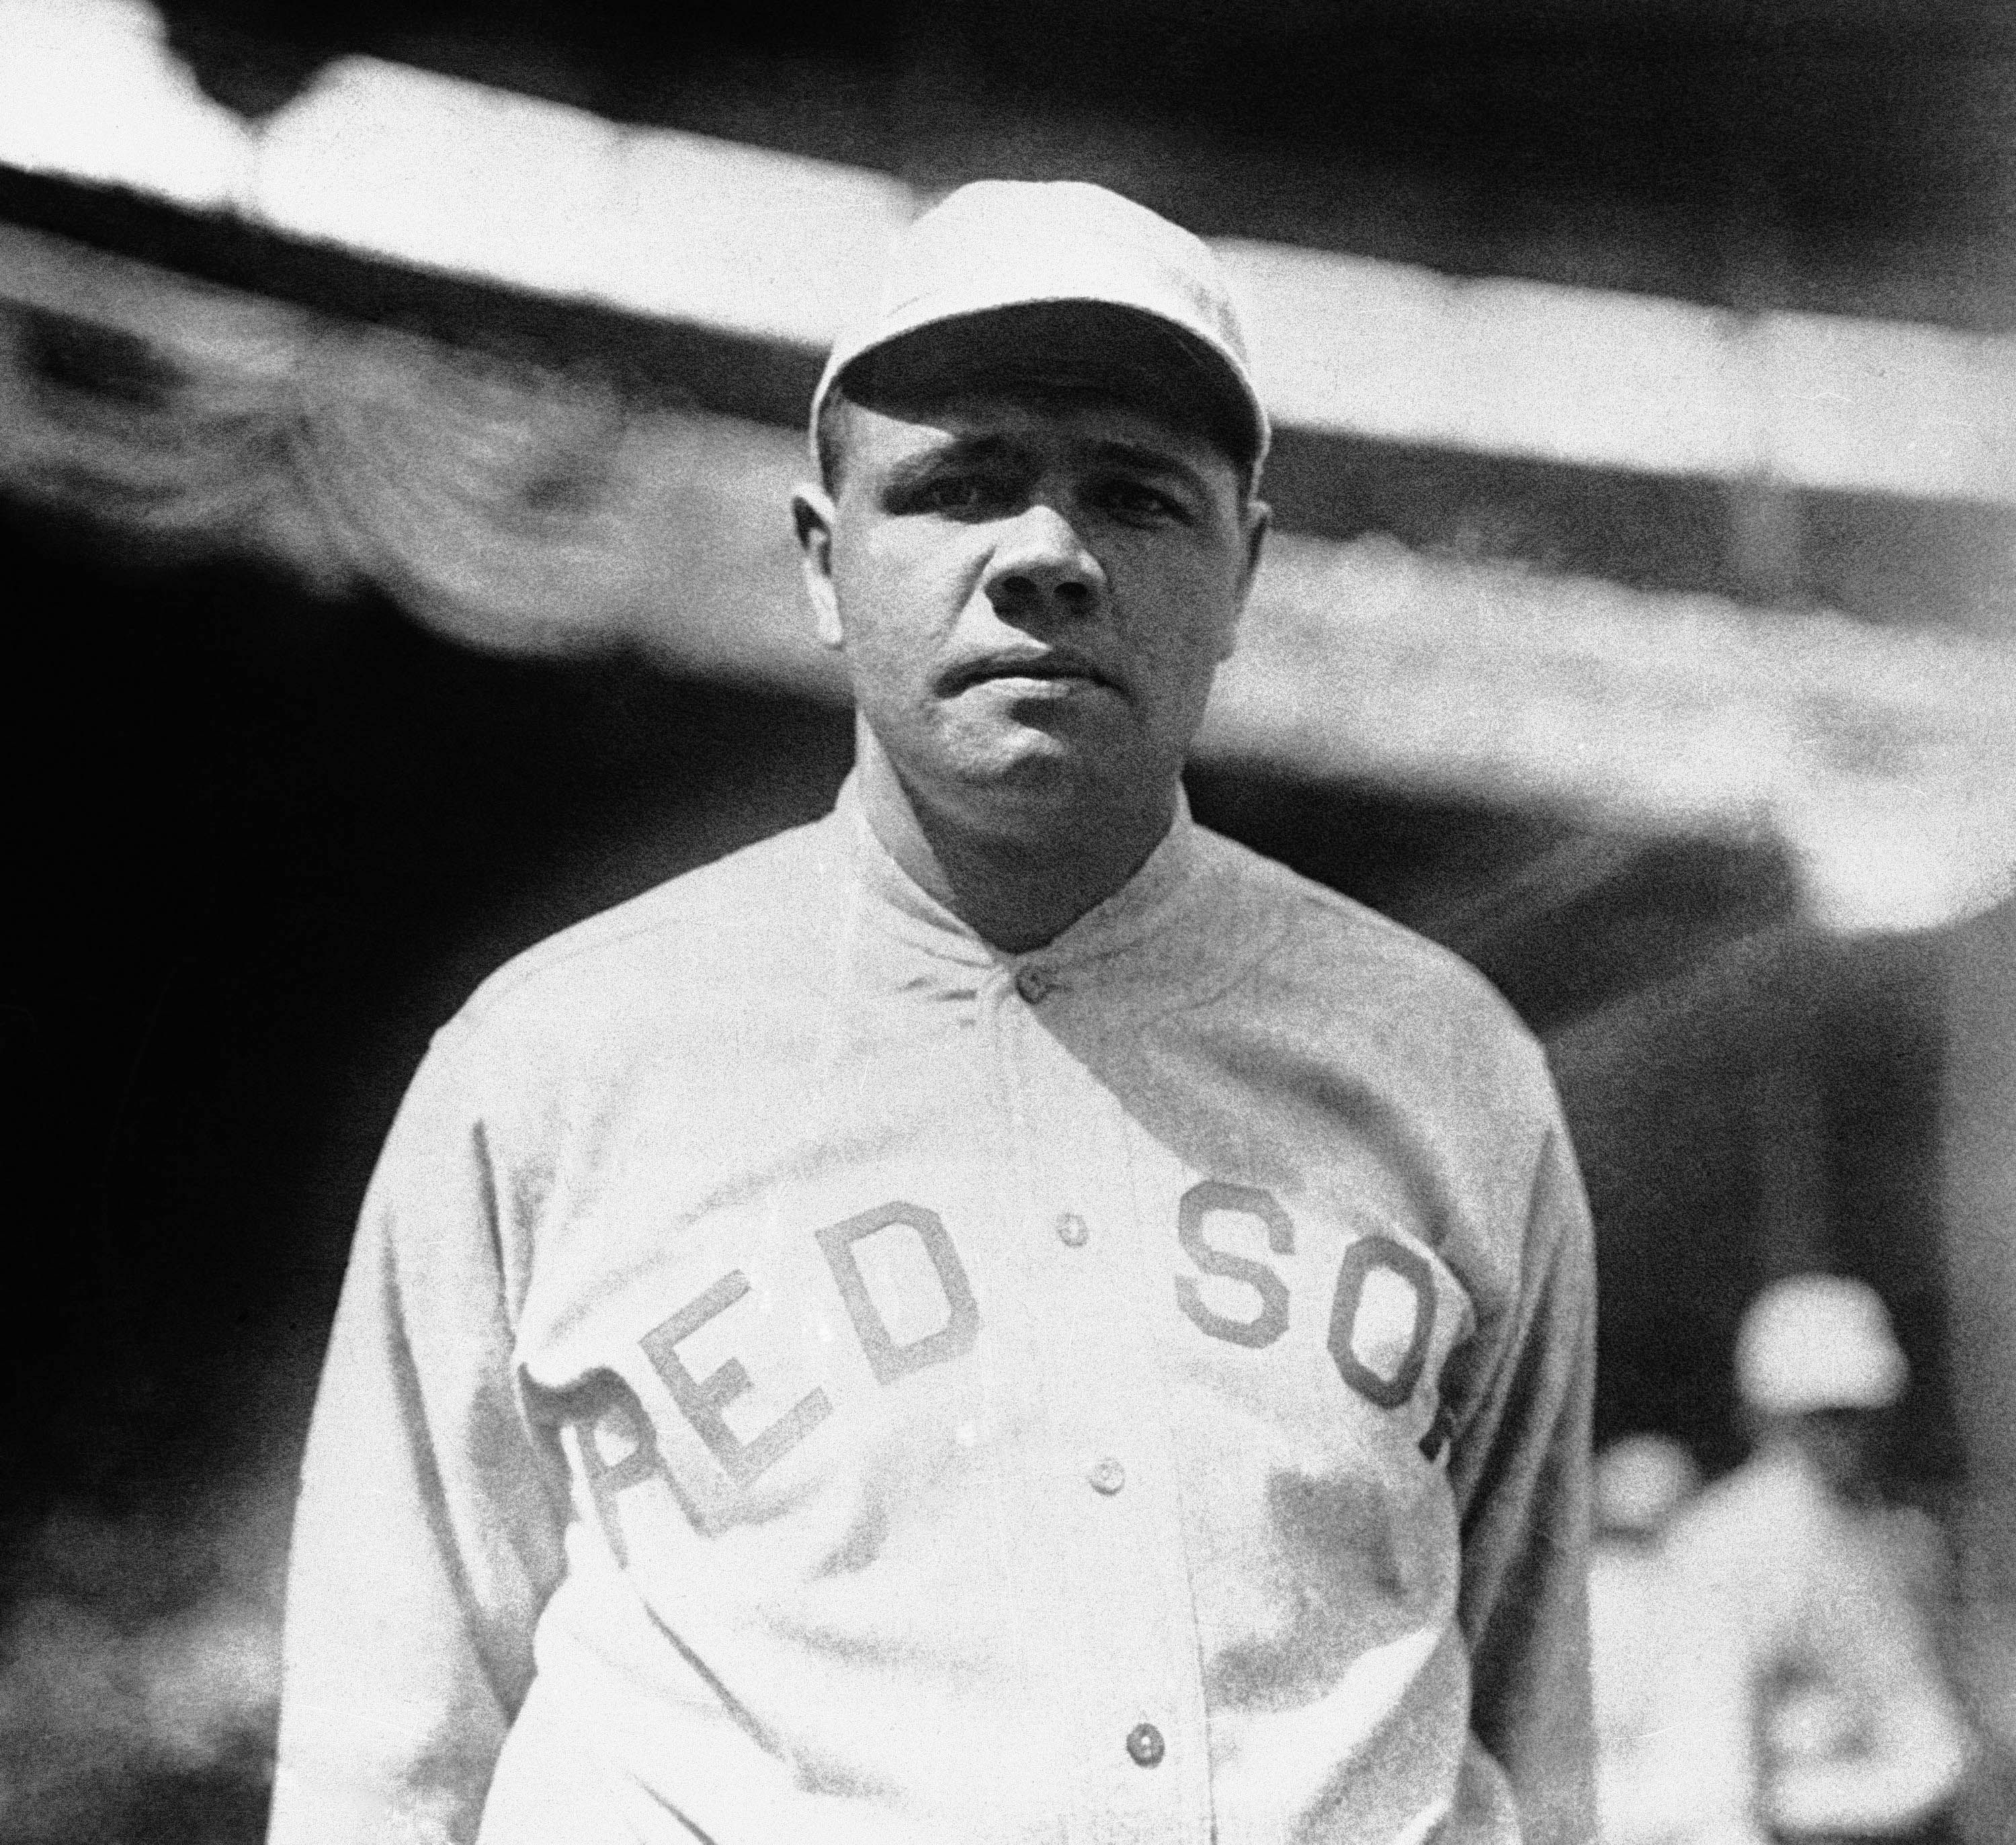
[[[798,496],[821,635],[913,794],[1000,813],[1165,801],[1232,651],[1266,510],[1119,403],[851,405]]]

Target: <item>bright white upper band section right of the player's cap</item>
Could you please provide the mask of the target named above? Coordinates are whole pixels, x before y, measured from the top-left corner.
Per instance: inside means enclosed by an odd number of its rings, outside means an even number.
[[[2016,343],[1224,242],[1288,425],[1591,468],[2016,498]]]

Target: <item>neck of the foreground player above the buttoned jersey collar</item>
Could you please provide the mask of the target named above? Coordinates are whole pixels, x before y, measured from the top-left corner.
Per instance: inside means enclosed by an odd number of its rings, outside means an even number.
[[[1109,811],[1075,803],[972,819],[907,788],[863,736],[857,786],[883,851],[960,921],[1008,954],[1054,942],[1127,883],[1167,837],[1175,786],[1159,803]]]

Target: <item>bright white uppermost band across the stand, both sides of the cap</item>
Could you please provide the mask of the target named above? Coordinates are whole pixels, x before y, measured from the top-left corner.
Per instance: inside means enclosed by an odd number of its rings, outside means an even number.
[[[623,129],[371,58],[333,63],[252,129],[194,89],[137,12],[0,0],[0,163],[800,351],[863,304],[919,204],[885,173]],[[65,32],[48,24],[58,14]],[[1248,302],[1262,395],[1288,427],[2016,504],[2012,341],[1452,280],[1280,244],[1220,250]]]

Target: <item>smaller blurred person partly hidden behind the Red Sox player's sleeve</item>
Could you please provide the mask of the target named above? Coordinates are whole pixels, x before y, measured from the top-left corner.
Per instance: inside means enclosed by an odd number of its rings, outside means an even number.
[[[1752,1815],[1748,1710],[1728,1684],[1726,1611],[1667,1549],[1702,1470],[1671,1436],[1607,1444],[1589,1555],[1603,1845],[1768,1845]],[[1720,1674],[1720,1678],[1718,1678]]]

